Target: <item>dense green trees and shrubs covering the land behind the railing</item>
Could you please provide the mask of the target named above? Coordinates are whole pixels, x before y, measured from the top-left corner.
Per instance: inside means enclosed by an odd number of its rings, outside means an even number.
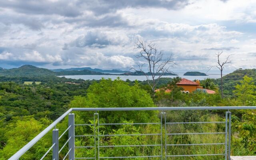
[[[153,106],[256,106],[255,70],[236,70],[224,76],[222,99],[218,93],[219,80],[201,81],[204,88],[217,94],[206,94],[200,90],[182,94],[176,83],[180,78],[161,78],[157,87],[168,88],[170,93],[157,92],[152,97],[147,82],[116,79],[100,81],[72,80],[56,76],[2,76],[0,77],[0,160],[6,160],[34,136],[51,124],[70,107],[153,107]],[[23,84],[24,81],[42,82]],[[69,84],[65,82],[74,82]],[[217,84],[217,85],[216,85]],[[160,122],[159,112],[74,112],[76,124],[140,123]],[[224,110],[168,111],[167,122],[224,121]],[[232,155],[256,154],[255,110],[232,110]],[[99,128],[98,128],[99,127]],[[57,125],[60,134],[67,128],[67,118]],[[113,125],[77,126],[76,135],[100,134],[148,134],[160,133],[160,125]],[[167,125],[167,133],[225,132],[224,124],[175,124]],[[164,134],[164,133],[163,133]],[[21,159],[40,159],[51,146],[51,133],[46,134]],[[68,139],[60,139],[62,146]],[[106,136],[100,138],[101,145],[144,145],[160,144],[160,136]],[[18,143],[17,143],[18,142]],[[223,135],[176,135],[168,136],[168,144],[198,144],[224,142]],[[76,146],[94,146],[91,136],[77,137]],[[218,146],[168,146],[167,154],[214,154],[223,153],[224,145]],[[164,149],[165,150],[165,149]],[[60,159],[68,151],[60,153]],[[101,148],[100,156],[144,156],[159,155],[160,146]],[[94,148],[76,149],[76,157],[94,157]],[[51,159],[51,153],[46,157]],[[128,158],[129,159],[129,158]],[[130,158],[131,159],[131,158]],[[137,158],[144,160],[146,158]],[[156,160],[160,158],[155,158]],[[223,156],[175,158],[175,160],[220,160]]]

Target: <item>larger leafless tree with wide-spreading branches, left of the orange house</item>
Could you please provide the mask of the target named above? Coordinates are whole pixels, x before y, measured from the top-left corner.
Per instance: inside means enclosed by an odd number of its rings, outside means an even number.
[[[164,58],[163,50],[159,50],[156,44],[153,42],[144,42],[141,39],[135,42],[135,49],[140,50],[136,58],[142,58],[146,62],[144,64],[138,64],[139,70],[132,69],[142,72],[146,76],[148,84],[154,93],[159,78],[166,72],[171,73],[170,68],[175,64],[173,54]],[[148,72],[143,71],[145,65],[148,67]],[[152,80],[152,83],[150,83],[150,80]]]

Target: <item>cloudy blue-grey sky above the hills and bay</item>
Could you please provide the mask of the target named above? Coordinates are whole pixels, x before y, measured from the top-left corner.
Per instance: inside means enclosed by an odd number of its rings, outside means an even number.
[[[0,67],[129,70],[141,38],[175,72],[256,68],[255,0],[0,0]],[[213,68],[212,72],[217,68]]]

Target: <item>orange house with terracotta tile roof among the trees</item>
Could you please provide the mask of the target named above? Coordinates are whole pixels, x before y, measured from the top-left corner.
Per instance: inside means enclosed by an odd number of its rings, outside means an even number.
[[[179,83],[177,83],[177,86],[183,88],[183,91],[182,91],[183,93],[192,93],[195,90],[202,90],[202,91],[204,91],[208,94],[215,94],[216,93],[214,90],[204,89],[202,86],[200,86],[199,80],[194,82],[192,80],[182,78],[181,81]],[[160,91],[160,89],[155,90],[155,92],[158,92],[158,91]],[[165,90],[165,92],[171,92],[171,90],[167,89],[167,90]]]

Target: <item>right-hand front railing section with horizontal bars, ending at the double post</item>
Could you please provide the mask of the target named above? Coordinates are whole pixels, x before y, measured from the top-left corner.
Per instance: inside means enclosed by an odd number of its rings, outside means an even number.
[[[166,122],[165,116],[165,159],[230,160],[228,147],[230,148],[231,128],[228,132],[228,118],[230,123],[231,112],[226,112],[225,121],[221,122]],[[200,125],[200,127],[194,132],[188,132],[186,125]],[[221,129],[219,132],[205,132],[202,125],[212,125],[214,130],[218,127]],[[221,126],[224,127],[225,132],[222,131]]]

